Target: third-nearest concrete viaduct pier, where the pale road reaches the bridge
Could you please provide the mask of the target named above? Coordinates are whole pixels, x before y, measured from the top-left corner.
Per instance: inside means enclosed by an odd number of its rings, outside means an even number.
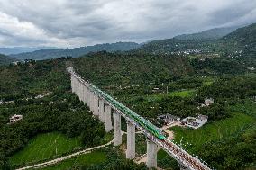
[[[122,144],[121,114],[114,111],[114,146]]]

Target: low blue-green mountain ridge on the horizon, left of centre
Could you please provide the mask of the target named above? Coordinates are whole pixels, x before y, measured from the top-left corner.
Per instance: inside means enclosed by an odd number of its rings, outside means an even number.
[[[106,43],[106,44],[96,44],[94,46],[86,46],[74,49],[41,49],[34,52],[27,52],[12,55],[13,58],[18,59],[34,59],[34,60],[43,60],[49,58],[60,58],[60,57],[72,57],[78,58],[82,55],[85,55],[89,52],[97,51],[126,51],[130,49],[136,49],[140,45],[135,42],[116,42],[116,43]]]

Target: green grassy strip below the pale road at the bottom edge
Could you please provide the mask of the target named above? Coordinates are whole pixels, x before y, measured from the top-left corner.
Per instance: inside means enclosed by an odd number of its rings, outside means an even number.
[[[106,161],[104,152],[95,151],[87,155],[73,157],[60,162],[57,165],[41,168],[41,170],[66,170],[66,169],[79,169],[79,166],[90,166],[93,164],[100,164]]]

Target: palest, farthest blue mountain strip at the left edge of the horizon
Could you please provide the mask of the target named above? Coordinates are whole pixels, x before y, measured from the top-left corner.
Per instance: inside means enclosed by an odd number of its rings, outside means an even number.
[[[23,52],[32,52],[35,50],[41,50],[41,49],[58,49],[54,47],[35,47],[35,48],[26,48],[26,47],[14,47],[14,48],[0,48],[0,53],[5,55],[10,54],[19,54]]]

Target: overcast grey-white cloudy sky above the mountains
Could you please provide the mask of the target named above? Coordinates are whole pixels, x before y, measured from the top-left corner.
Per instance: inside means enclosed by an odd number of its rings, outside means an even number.
[[[256,22],[256,0],[0,0],[0,47],[159,40]]]

